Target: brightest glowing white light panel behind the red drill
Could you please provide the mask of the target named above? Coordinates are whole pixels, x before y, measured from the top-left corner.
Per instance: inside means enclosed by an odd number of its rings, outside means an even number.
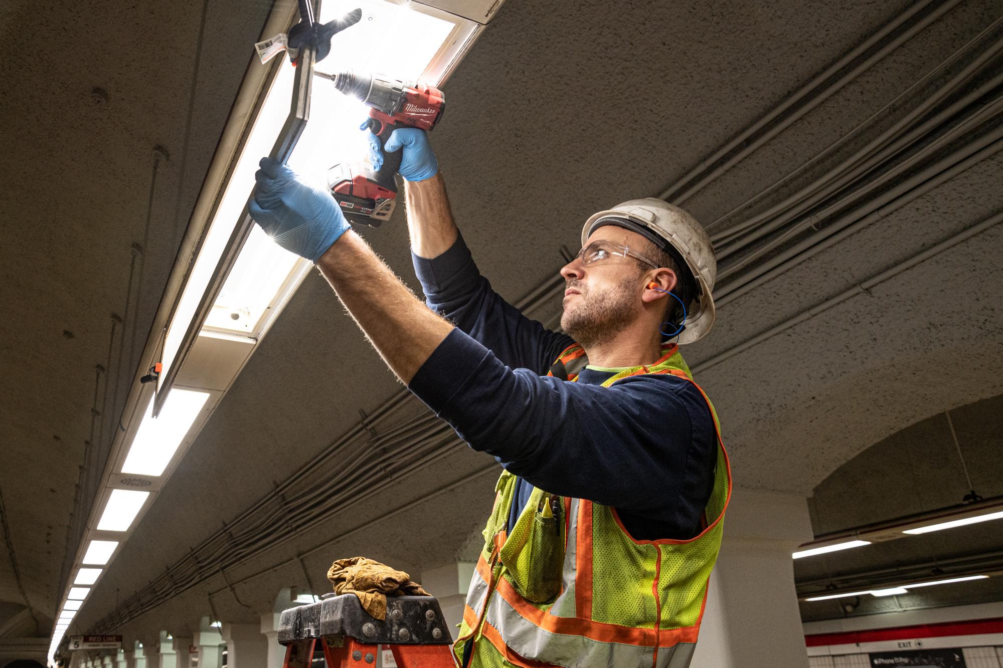
[[[422,8],[422,11],[416,11],[406,4],[384,0],[363,0],[361,3],[354,0],[328,0],[323,3],[320,21],[340,18],[357,6],[362,8],[363,20],[334,36],[332,51],[336,51],[339,57],[322,61],[316,67],[317,71],[334,73],[354,69],[414,80],[421,76],[450,35],[458,29],[456,21],[460,24],[470,23],[465,19],[437,13],[437,10],[425,11]],[[193,270],[193,280],[190,283],[201,287],[197,291],[200,296],[208,285],[208,278],[204,279],[202,276],[215,269],[216,259],[223,249],[215,240],[213,244],[210,241],[217,234],[218,228],[231,230],[233,221],[243,211],[254,186],[253,178],[258,160],[271,148],[288,113],[292,79],[293,70],[284,61],[262,105],[248,143],[238,159],[207,236],[204,252],[214,260],[208,262],[203,271],[200,267],[201,252]],[[437,80],[431,82],[435,83]],[[363,159],[367,155],[364,135],[359,131],[358,125],[368,113],[368,107],[338,92],[331,81],[321,77],[314,80],[310,103],[312,115],[323,120],[307,124],[290,156],[289,164],[315,186],[326,188],[327,171],[333,164]],[[225,241],[223,230],[219,234],[222,244]],[[290,286],[294,289],[309,268],[308,263],[274,244],[264,232],[255,227],[206,319],[206,331],[260,336],[283,306],[281,302],[288,297]],[[199,277],[199,280],[195,281],[195,277]],[[188,299],[187,286],[182,302]],[[192,299],[195,299],[194,293]],[[276,304],[276,301],[280,303]],[[194,306],[188,304],[178,309],[183,319],[190,312],[194,315]],[[187,316],[188,319],[191,317]],[[164,346],[164,371],[173,363],[182,334],[184,331],[181,325],[176,327],[172,324]]]

